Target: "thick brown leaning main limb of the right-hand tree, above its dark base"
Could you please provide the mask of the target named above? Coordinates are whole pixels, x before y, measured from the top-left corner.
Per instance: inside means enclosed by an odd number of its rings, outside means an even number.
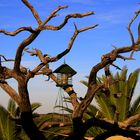
[[[137,16],[134,16],[133,19],[135,20],[136,17]],[[131,22],[133,23],[133,20]],[[131,25],[131,22],[130,22],[130,25]],[[93,97],[97,93],[97,91],[104,88],[103,85],[98,85],[98,83],[97,83],[96,78],[97,78],[98,71],[103,69],[107,65],[112,64],[118,58],[118,55],[120,55],[121,53],[133,52],[136,50],[139,51],[138,44],[140,44],[140,41],[139,42],[137,41],[137,44],[134,42],[134,44],[132,44],[131,46],[125,46],[122,48],[115,48],[111,52],[103,55],[101,62],[99,62],[98,64],[93,66],[93,68],[90,72],[90,76],[89,76],[87,93],[85,95],[84,100],[81,101],[80,105],[74,110],[73,118],[82,117],[84,111],[86,110],[88,105],[93,100]]]

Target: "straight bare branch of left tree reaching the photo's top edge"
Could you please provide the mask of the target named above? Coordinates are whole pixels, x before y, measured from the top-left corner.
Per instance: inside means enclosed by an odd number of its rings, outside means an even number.
[[[42,23],[37,11],[34,9],[34,7],[27,1],[27,0],[22,0],[22,2],[31,10],[33,16],[35,17],[36,21],[40,25]]]

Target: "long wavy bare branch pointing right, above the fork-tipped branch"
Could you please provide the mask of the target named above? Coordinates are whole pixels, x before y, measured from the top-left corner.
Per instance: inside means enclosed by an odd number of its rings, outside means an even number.
[[[62,24],[60,24],[58,26],[46,25],[44,27],[44,29],[45,30],[60,30],[62,27],[64,27],[66,25],[66,23],[68,22],[68,20],[70,18],[82,18],[82,17],[93,15],[93,14],[94,14],[93,12],[86,12],[86,13],[83,13],[83,14],[79,14],[79,13],[69,14],[65,17]]]

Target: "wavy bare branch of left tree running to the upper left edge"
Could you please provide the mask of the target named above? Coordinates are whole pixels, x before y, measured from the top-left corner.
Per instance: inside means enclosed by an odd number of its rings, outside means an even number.
[[[35,32],[35,30],[33,30],[31,27],[21,27],[21,28],[17,29],[16,31],[13,31],[13,32],[0,30],[0,33],[3,33],[5,35],[9,35],[9,36],[15,36],[15,35],[17,35],[18,33],[22,32],[22,31],[29,31],[30,33]]]

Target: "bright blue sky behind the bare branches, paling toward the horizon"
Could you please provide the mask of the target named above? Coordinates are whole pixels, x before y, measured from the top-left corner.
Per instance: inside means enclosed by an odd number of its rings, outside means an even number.
[[[37,23],[31,12],[19,0],[0,1],[0,29],[13,31],[21,26],[32,26],[35,28]],[[113,49],[112,45],[122,47],[131,44],[130,36],[126,29],[134,12],[140,8],[139,0],[29,0],[38,11],[41,19],[45,19],[49,13],[59,5],[68,5],[68,9],[59,12],[59,16],[49,24],[60,24],[65,15],[69,13],[84,13],[94,11],[95,15],[83,19],[71,19],[61,31],[43,31],[39,37],[29,46],[39,48],[44,53],[51,56],[56,55],[67,47],[67,44],[74,32],[73,23],[78,28],[89,25],[99,24],[96,29],[79,34],[71,52],[65,57],[66,62],[71,65],[78,74],[74,76],[74,87],[78,96],[83,96],[86,88],[79,81],[89,74],[93,65],[100,61],[103,54]],[[140,17],[132,26],[135,38],[137,37],[137,25]],[[22,32],[16,37],[8,37],[0,34],[1,46],[0,54],[8,58],[15,55],[18,44],[29,33]],[[129,71],[140,67],[139,53],[135,54],[134,61],[117,61],[120,67],[127,65]],[[64,59],[51,64],[55,69],[63,63]],[[24,55],[22,64],[32,68],[39,61],[35,57]],[[10,64],[7,64],[10,66]],[[114,71],[114,69],[113,69]],[[58,88],[53,82],[44,82],[45,77],[36,77],[29,83],[31,101],[38,101],[43,104],[42,110],[50,111],[54,105],[54,100],[58,93]],[[11,81],[10,81],[11,82]],[[13,82],[11,82],[13,83]],[[16,87],[16,83],[13,84]],[[7,103],[8,96],[0,89],[0,103]]]

